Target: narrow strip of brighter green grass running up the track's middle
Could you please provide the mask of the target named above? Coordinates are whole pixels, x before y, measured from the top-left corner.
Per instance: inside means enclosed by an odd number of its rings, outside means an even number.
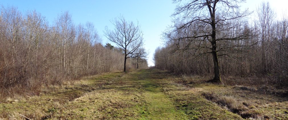
[[[140,73],[134,76],[138,76],[138,81],[144,87],[143,96],[147,103],[144,112],[146,114],[142,115],[141,119],[188,119],[182,110],[173,105],[173,100],[161,91],[162,87],[153,82],[155,74],[147,70]],[[158,74],[159,76],[163,74]]]

